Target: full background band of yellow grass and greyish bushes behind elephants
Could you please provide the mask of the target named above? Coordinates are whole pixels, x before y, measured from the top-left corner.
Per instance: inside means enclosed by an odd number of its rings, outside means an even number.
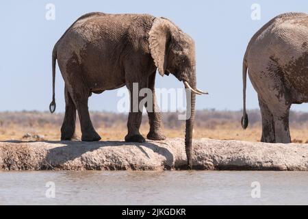
[[[103,140],[123,140],[126,133],[127,115],[93,112],[92,120]],[[307,116],[307,118],[306,118]],[[261,123],[258,110],[249,112],[250,126],[243,130],[240,126],[241,112],[198,111],[194,138],[220,140],[246,140],[258,142],[261,136]],[[59,140],[63,114],[44,112],[3,112],[0,113],[0,140]],[[308,143],[308,114],[292,112],[292,142]],[[142,135],[149,131],[144,116]],[[185,122],[177,120],[177,114],[164,114],[164,134],[168,138],[183,138]],[[77,137],[80,138],[77,123]]]

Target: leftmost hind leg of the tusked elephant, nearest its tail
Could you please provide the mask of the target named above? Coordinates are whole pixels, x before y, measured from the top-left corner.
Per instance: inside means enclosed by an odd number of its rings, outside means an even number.
[[[76,106],[73,99],[68,92],[68,89],[64,88],[65,96],[65,116],[61,127],[61,140],[72,140],[75,136],[75,124],[76,124]]]

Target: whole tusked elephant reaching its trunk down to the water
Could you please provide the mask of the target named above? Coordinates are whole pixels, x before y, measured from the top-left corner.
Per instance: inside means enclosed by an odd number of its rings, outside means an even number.
[[[164,140],[162,116],[155,100],[155,75],[174,75],[183,81],[190,95],[191,116],[186,120],[185,150],[188,166],[192,167],[192,132],[196,94],[206,94],[196,88],[196,60],[194,40],[167,18],[149,14],[85,14],[71,25],[55,44],[52,54],[53,100],[49,106],[55,111],[55,65],[65,83],[66,110],[61,128],[61,140],[75,136],[76,111],[81,125],[81,140],[99,141],[88,111],[92,93],[127,86],[149,88],[153,93],[153,110],[148,110],[149,140]],[[130,98],[126,142],[144,142],[140,134],[142,111],[133,111],[140,98]]]

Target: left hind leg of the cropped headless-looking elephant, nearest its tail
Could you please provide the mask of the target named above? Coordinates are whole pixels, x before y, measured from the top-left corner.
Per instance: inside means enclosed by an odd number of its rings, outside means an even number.
[[[259,96],[259,106],[261,110],[262,118],[262,136],[261,142],[274,143],[275,142],[275,129],[274,129],[274,117],[268,109],[268,105]]]

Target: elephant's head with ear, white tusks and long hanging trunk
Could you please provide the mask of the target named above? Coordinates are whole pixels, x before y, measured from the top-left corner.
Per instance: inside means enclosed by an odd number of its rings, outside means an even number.
[[[188,166],[192,168],[192,131],[196,94],[207,94],[196,88],[196,60],[194,40],[179,27],[166,18],[155,18],[149,32],[149,47],[159,74],[175,75],[188,88],[191,105],[187,103],[187,112],[191,112],[186,120],[185,150]],[[188,96],[189,97],[189,96]]]

